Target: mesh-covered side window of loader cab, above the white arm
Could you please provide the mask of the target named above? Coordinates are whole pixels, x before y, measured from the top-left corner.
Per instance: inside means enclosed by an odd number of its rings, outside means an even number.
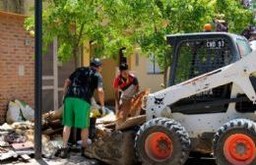
[[[224,38],[183,41],[178,49],[174,84],[222,68],[230,62],[229,43]]]

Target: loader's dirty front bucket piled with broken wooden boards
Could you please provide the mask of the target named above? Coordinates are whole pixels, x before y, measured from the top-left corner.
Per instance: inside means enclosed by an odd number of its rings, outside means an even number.
[[[134,138],[139,126],[146,122],[141,107],[147,94],[149,90],[127,100],[116,116],[110,113],[96,120],[96,137],[85,151],[88,157],[113,165],[136,164]]]

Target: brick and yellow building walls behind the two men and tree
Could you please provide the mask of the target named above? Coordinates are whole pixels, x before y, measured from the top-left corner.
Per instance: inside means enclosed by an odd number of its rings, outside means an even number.
[[[44,4],[45,5],[45,4]],[[5,122],[8,102],[20,99],[34,107],[34,41],[24,28],[32,12],[33,0],[0,0],[0,124]],[[57,58],[57,38],[42,56],[42,111],[62,105],[63,84],[75,71],[74,61],[62,64]],[[89,42],[82,49],[78,66],[89,66],[93,58]],[[139,79],[141,89],[159,90],[162,74],[156,64],[144,56],[132,54],[126,59],[131,72]],[[114,101],[113,80],[118,74],[119,60],[103,59],[105,101]]]

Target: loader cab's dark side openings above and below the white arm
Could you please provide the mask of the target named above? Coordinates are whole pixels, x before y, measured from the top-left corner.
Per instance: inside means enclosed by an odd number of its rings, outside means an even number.
[[[174,84],[182,83],[197,76],[222,68],[232,62],[230,43],[225,38],[185,40],[178,45]],[[173,60],[173,61],[175,61]],[[170,106],[173,113],[206,114],[225,112],[228,103],[211,104],[230,98],[231,83],[180,99]],[[197,108],[194,108],[194,105]]]

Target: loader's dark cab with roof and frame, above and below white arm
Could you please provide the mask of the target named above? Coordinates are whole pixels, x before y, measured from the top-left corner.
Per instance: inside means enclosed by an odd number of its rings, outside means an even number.
[[[243,36],[226,32],[172,34],[166,37],[173,50],[169,85],[222,68],[251,52]],[[256,80],[252,78],[252,81],[255,83]],[[181,99],[170,108],[172,112],[183,114],[220,113],[226,111],[230,102],[236,102],[237,111],[251,111],[247,107],[255,105],[246,96],[230,99],[231,86],[228,83]]]

